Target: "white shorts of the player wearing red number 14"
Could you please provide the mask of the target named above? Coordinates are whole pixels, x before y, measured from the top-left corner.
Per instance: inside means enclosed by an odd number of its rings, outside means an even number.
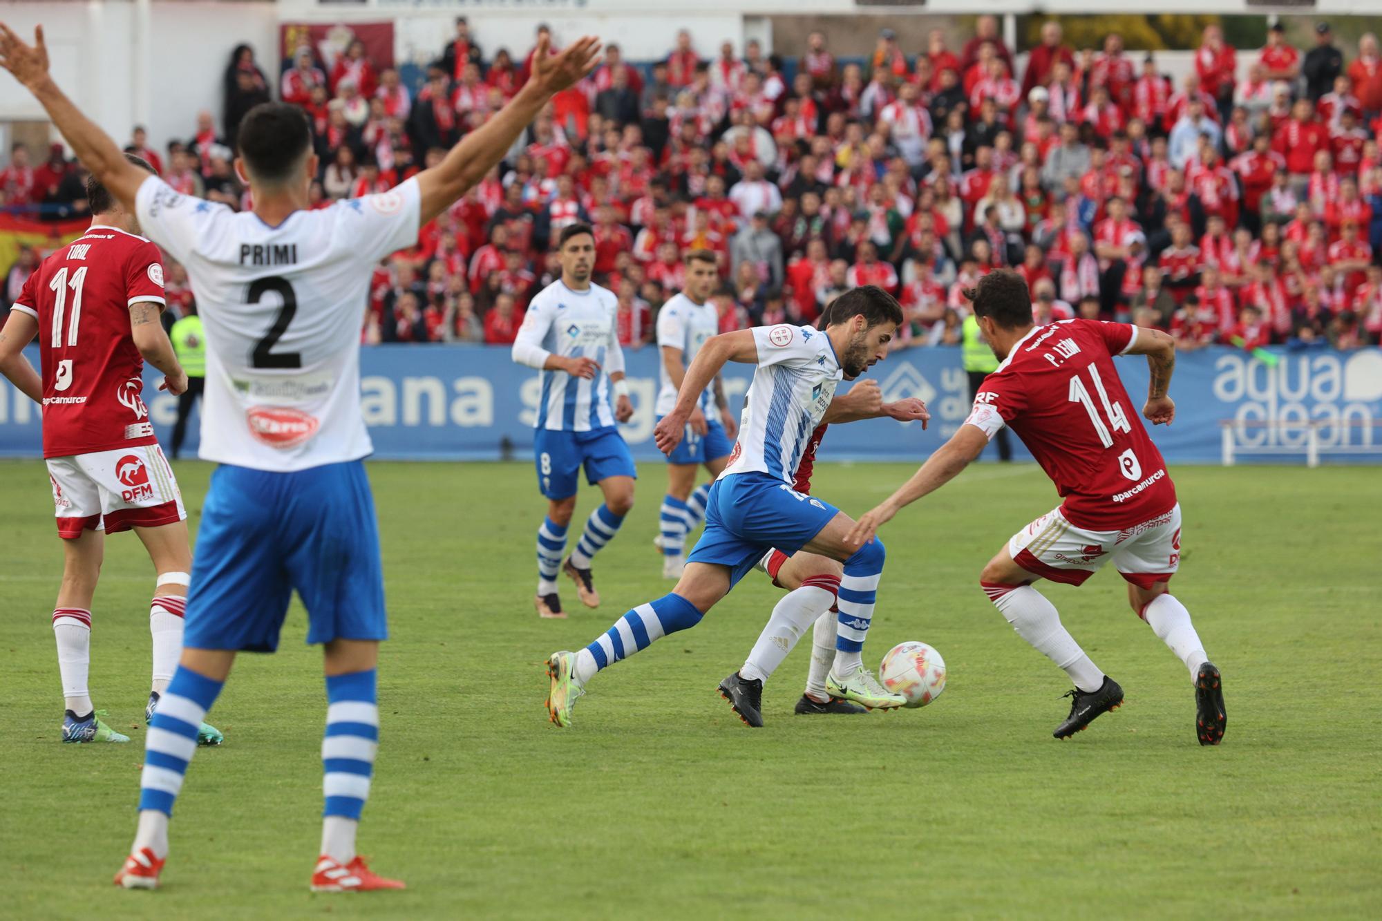
[[[1048,512],[1007,539],[1013,561],[1052,582],[1081,585],[1113,560],[1119,575],[1142,588],[1180,568],[1180,505],[1121,531],[1086,531]]]

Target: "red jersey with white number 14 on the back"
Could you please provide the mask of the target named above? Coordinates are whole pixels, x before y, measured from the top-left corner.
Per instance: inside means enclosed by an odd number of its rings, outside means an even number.
[[[1036,326],[988,375],[966,419],[990,438],[1003,425],[1016,431],[1066,499],[1061,513],[1089,531],[1133,527],[1176,505],[1166,462],[1113,362],[1136,340],[1128,324]]]

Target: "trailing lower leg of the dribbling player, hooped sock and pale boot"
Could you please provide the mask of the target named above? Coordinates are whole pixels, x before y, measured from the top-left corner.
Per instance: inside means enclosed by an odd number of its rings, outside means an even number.
[[[547,660],[551,689],[547,715],[558,726],[571,725],[571,708],[596,672],[647,649],[668,633],[701,622],[730,592],[730,570],[710,563],[688,563],[669,595],[640,604],[578,653],[553,653]]]

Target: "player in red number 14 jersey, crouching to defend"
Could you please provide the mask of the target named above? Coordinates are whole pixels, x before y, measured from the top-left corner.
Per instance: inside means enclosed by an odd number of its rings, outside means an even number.
[[[1074,680],[1067,738],[1124,693],[1060,624],[1032,582],[1079,585],[1113,560],[1128,581],[1133,611],[1186,664],[1195,689],[1195,736],[1218,745],[1227,718],[1219,669],[1208,660],[1190,613],[1166,588],[1180,563],[1180,505],[1161,452],[1129,415],[1114,355],[1147,355],[1151,382],[1143,415],[1171,425],[1166,396],[1176,364],[1171,336],[1125,324],[1070,319],[1034,328],[1027,283],[995,271],[967,292],[984,337],[1002,360],[974,398],[966,425],[887,501],[862,516],[849,539],[869,541],[898,509],[938,490],[976,459],[1005,425],[1036,458],[1064,498],[1060,508],[1014,534],[984,567],[980,584],[1017,633]]]

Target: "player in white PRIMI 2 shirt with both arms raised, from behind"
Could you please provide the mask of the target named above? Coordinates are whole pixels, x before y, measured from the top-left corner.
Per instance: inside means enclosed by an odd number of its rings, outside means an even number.
[[[169,816],[239,650],[272,651],[296,589],[310,643],[325,644],[325,819],[311,888],[398,889],[355,853],[379,740],[375,665],[384,585],[362,458],[359,329],[375,263],[495,166],[554,91],[594,69],[598,41],[558,55],[539,41],[527,86],[437,166],[398,188],[311,210],[316,173],[303,109],[265,102],[239,126],[235,169],[254,210],[180,195],[120,154],[48,76],[41,28],[29,47],[0,25],[0,65],[47,109],[77,158],[187,266],[207,343],[200,455],[220,462],[203,508],[181,664],[148,733],[140,826],[116,874],[152,889]],[[246,501],[254,496],[256,501]]]

